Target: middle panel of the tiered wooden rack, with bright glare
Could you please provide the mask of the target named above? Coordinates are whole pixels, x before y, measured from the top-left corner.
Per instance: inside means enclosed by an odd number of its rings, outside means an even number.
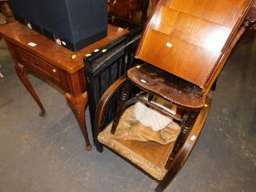
[[[214,52],[221,51],[232,30],[164,6],[160,8],[152,28]]]

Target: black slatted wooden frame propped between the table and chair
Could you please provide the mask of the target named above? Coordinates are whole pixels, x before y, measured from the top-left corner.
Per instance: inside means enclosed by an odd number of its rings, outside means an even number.
[[[130,69],[138,62],[134,59],[134,51],[140,40],[142,30],[143,27],[136,27],[125,36],[101,48],[106,50],[106,52],[91,52],[91,56],[84,59],[91,131],[95,143],[97,143],[97,138],[95,137],[93,127],[98,102],[112,82],[122,77],[127,69]],[[109,111],[115,107],[116,100],[111,101],[112,104]],[[112,121],[113,114],[114,110],[109,112],[104,123]]]

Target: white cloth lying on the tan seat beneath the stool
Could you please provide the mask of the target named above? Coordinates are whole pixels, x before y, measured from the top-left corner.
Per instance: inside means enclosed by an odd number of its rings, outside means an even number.
[[[159,107],[165,109],[167,112],[176,114],[176,107],[172,106],[171,109],[166,108],[164,105],[159,104],[155,101],[151,101],[158,105]],[[154,131],[159,131],[164,129],[169,123],[173,122],[172,118],[166,117],[165,115],[156,112],[155,110],[145,106],[143,102],[136,102],[134,104],[134,115],[135,119],[145,126],[151,127]]]

